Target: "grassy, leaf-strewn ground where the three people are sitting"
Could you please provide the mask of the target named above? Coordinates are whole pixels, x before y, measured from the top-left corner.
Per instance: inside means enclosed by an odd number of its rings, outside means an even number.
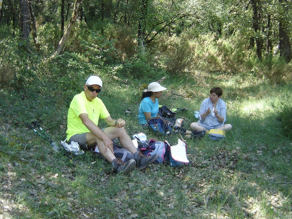
[[[124,85],[102,78],[100,98],[113,118],[127,121],[129,135],[144,131],[149,139],[177,142],[178,135],[141,130],[134,116],[138,84],[151,81]],[[190,109],[178,115],[192,121],[210,88],[221,86],[233,130],[222,142],[187,140],[187,166],[151,165],[128,177],[112,174],[89,152],[74,157],[74,164],[23,125],[40,119],[54,140],[63,140],[69,101],[81,89],[62,95],[67,93],[49,85],[21,98],[0,91],[0,218],[291,218],[291,140],[272,105],[291,102],[292,86],[203,73],[162,84],[168,90],[159,103]],[[129,108],[133,115],[124,115]]]

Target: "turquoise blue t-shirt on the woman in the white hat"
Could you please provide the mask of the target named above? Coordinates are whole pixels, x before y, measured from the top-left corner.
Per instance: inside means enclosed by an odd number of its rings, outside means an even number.
[[[155,103],[152,102],[150,97],[145,97],[139,106],[138,112],[138,122],[139,124],[146,124],[147,120],[144,115],[144,112],[151,112],[151,118],[156,117],[159,110],[158,100],[155,99]]]

